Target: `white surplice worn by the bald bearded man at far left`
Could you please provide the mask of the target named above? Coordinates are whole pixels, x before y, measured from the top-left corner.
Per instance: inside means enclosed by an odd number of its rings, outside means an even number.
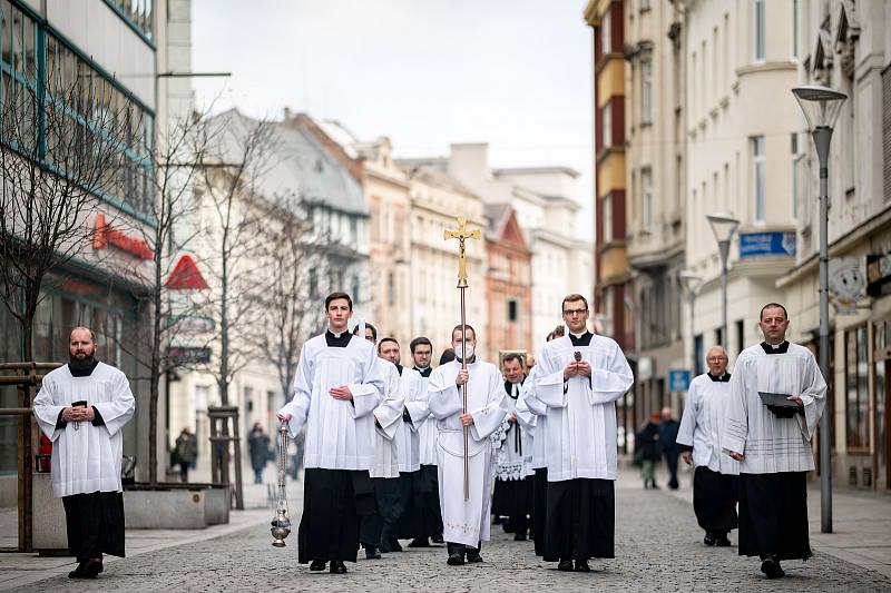
[[[72,402],[86,401],[101,415],[104,425],[69,422],[56,428],[59,413]],[[43,377],[33,404],[43,434],[52,441],[52,493],[71,496],[92,492],[123,492],[120,429],[136,411],[130,384],[117,368],[99,363],[89,376],[71,376],[68,365]]]

